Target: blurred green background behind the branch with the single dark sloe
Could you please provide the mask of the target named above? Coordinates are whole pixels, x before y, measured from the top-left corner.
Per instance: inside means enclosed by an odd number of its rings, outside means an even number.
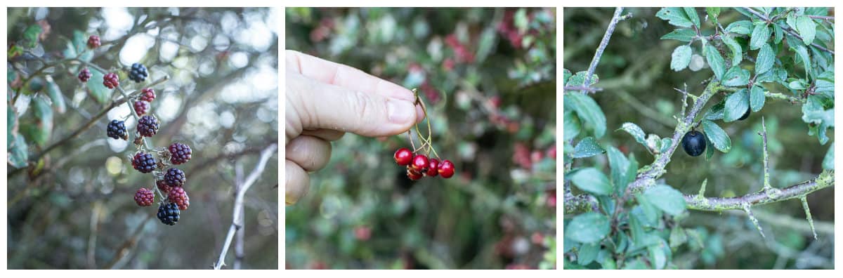
[[[615,131],[625,122],[633,122],[647,133],[669,137],[676,125],[673,115],[681,110],[684,88],[699,94],[711,70],[700,72],[670,69],[671,52],[680,43],[660,40],[675,29],[655,16],[659,8],[627,8],[632,18],[620,22],[594,72],[600,78],[595,87],[604,91],[591,96],[606,115],[609,132],[601,144],[616,146],[625,154],[634,152],[639,163],[652,163],[652,155],[626,132]],[[585,71],[604,35],[614,8],[566,8],[564,12],[564,67],[572,72]],[[830,16],[834,16],[831,10]],[[732,9],[724,9],[719,21],[727,26],[746,19]],[[772,92],[791,95],[787,88],[766,83]],[[708,110],[725,97],[715,96],[706,104]],[[767,99],[765,107],[747,120],[722,126],[732,138],[728,153],[715,152],[711,161],[690,157],[677,151],[666,168],[664,182],[685,194],[695,194],[708,179],[706,196],[746,195],[763,187],[763,149],[761,117],[765,118],[771,155],[771,184],[785,187],[813,179],[822,171],[826,152],[833,143],[820,145],[808,135],[799,104]],[[834,141],[833,132],[829,132]],[[609,168],[605,156],[587,158],[588,164]],[[608,171],[608,170],[606,170]],[[743,211],[717,214],[690,211],[683,227],[695,227],[699,243],[674,251],[679,269],[833,269],[834,268],[834,187],[808,196],[819,239],[814,240],[798,200],[788,200],[755,207],[753,212],[764,228],[766,238],[747,219]],[[695,247],[696,246],[696,247]]]

